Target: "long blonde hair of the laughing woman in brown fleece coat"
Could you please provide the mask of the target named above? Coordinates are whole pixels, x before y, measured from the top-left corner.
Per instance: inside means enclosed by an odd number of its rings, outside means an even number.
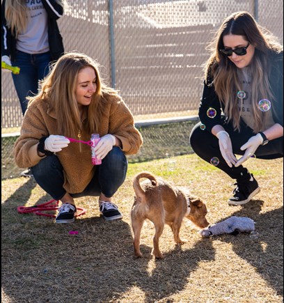
[[[97,132],[104,117],[105,104],[111,102],[110,96],[120,98],[118,92],[102,81],[99,64],[86,54],[70,52],[54,63],[51,72],[40,83],[40,92],[29,99],[45,100],[50,110],[56,111],[58,134],[72,136],[82,130],[82,122],[75,91],[79,72],[87,67],[93,68],[96,75],[97,90],[88,107],[84,107],[88,116],[88,131]]]

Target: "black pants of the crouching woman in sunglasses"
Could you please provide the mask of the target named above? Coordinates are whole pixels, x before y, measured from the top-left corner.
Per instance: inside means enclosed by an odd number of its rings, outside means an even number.
[[[244,155],[245,150],[240,150],[241,146],[248,141],[249,138],[255,136],[253,130],[246,125],[241,125],[241,131],[235,131],[232,124],[226,123],[225,118],[222,119],[223,127],[230,135],[232,141],[232,151],[236,155]],[[189,141],[194,152],[203,160],[210,163],[213,157],[219,159],[219,164],[216,166],[233,179],[244,180],[251,178],[248,169],[240,165],[238,167],[228,166],[221,155],[219,148],[219,139],[206,129],[201,130],[198,123],[191,130]],[[269,141],[265,146],[259,146],[255,151],[255,157],[260,159],[276,159],[283,157],[283,137]]]

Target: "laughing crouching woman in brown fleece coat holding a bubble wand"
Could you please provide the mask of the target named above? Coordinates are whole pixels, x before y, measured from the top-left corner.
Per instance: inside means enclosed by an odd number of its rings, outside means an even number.
[[[72,140],[90,141],[93,133],[101,138],[95,147],[100,165],[92,164],[88,144]],[[63,203],[56,222],[74,222],[80,196],[99,196],[100,212],[113,220],[123,217],[111,196],[125,180],[125,155],[137,153],[142,141],[125,102],[102,82],[98,64],[73,52],[55,63],[38,95],[29,98],[14,157]]]

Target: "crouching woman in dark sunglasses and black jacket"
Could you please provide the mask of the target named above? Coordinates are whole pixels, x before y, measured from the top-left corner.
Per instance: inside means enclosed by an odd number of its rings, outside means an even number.
[[[216,33],[199,117],[192,148],[237,180],[229,205],[248,203],[260,187],[242,164],[283,157],[283,47],[249,13],[230,15]]]

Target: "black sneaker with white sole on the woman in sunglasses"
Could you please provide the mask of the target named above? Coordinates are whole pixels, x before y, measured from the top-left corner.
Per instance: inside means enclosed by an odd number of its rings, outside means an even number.
[[[251,173],[253,178],[253,174]],[[258,182],[253,178],[253,180],[248,180],[245,182],[237,181],[235,183],[237,187],[234,189],[234,196],[228,200],[229,205],[243,205],[251,201],[253,196],[260,192],[260,187]]]

